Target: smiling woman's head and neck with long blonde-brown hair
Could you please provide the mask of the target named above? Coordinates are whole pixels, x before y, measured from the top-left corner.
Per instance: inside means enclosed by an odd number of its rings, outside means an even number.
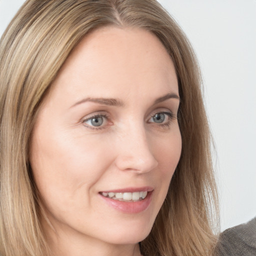
[[[28,0],[0,70],[1,255],[213,253],[200,74],[156,1]]]

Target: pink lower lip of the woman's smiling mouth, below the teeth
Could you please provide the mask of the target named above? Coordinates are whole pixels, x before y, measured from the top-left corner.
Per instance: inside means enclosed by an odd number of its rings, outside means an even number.
[[[152,193],[153,191],[147,192],[147,195],[144,199],[140,201],[130,201],[130,202],[125,202],[125,201],[119,201],[115,199],[111,199],[109,197],[105,197],[101,194],[102,199],[105,200],[105,202],[110,205],[111,207],[115,208],[116,210],[125,212],[125,213],[139,213],[141,211],[146,210],[151,202],[152,199]]]

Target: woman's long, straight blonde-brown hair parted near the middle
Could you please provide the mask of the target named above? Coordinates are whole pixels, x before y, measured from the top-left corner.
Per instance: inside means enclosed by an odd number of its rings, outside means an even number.
[[[28,162],[29,139],[60,67],[92,29],[140,27],[154,33],[173,60],[179,85],[182,152],[144,256],[210,255],[217,194],[211,137],[193,50],[155,0],[27,0],[0,40],[0,254],[42,256],[46,242]]]

